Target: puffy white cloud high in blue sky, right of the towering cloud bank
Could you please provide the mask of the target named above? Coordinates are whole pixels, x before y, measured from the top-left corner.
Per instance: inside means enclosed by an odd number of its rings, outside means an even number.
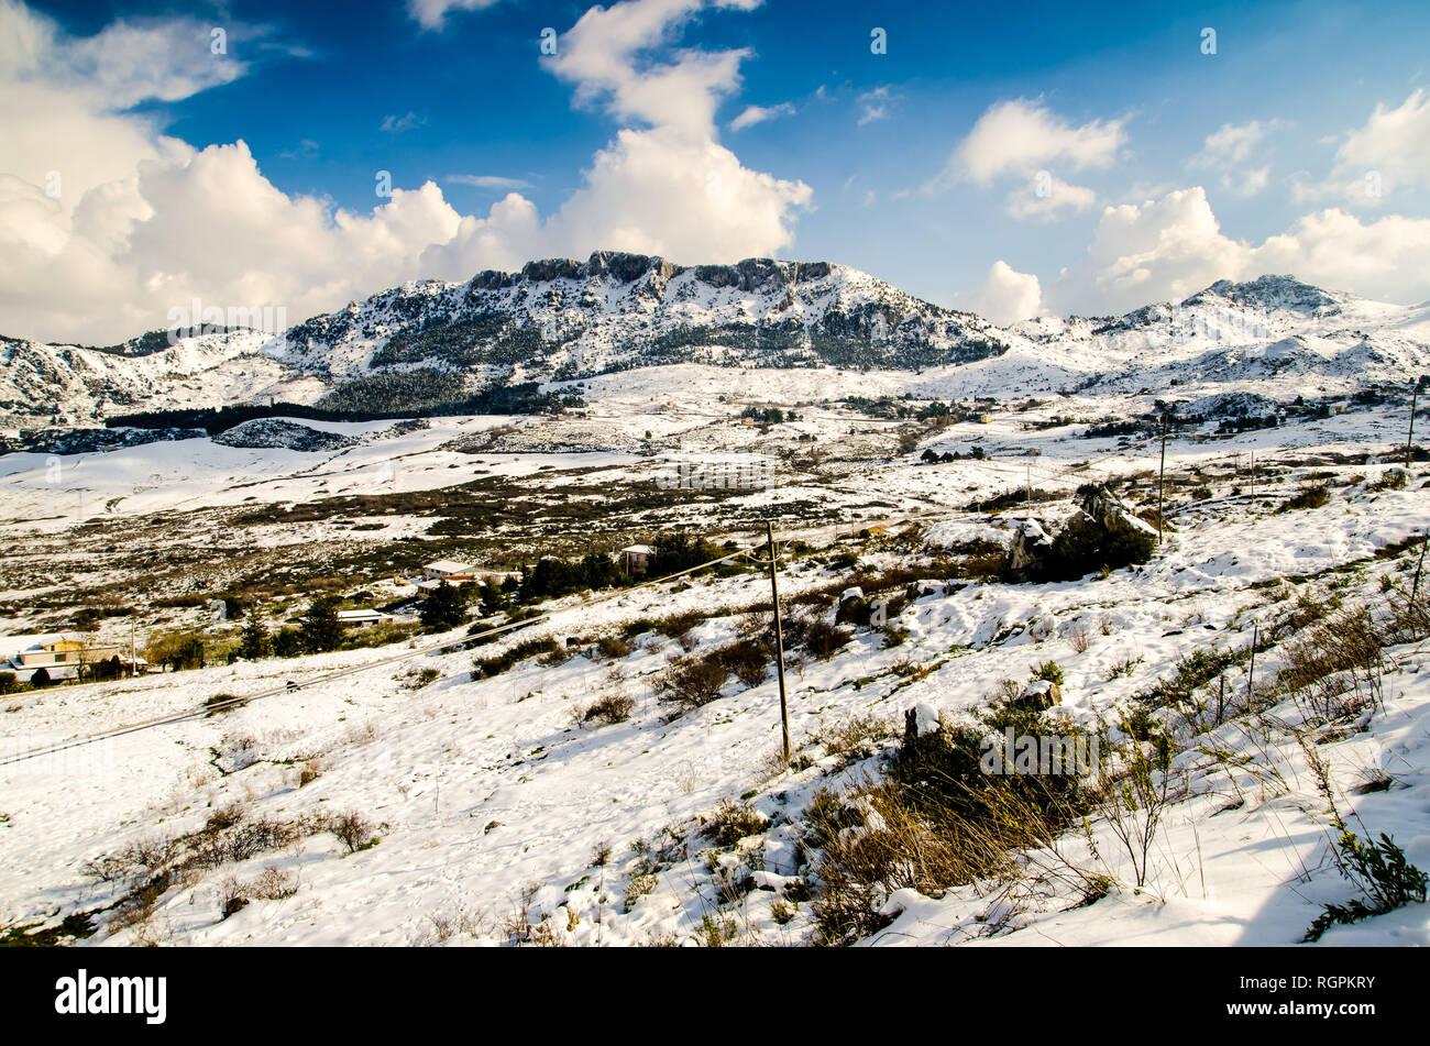
[[[1054,164],[1071,170],[1108,167],[1127,141],[1123,123],[1093,120],[1074,127],[1041,101],[1000,101],[954,149],[940,181],[987,184],[1004,174],[1025,176]]]

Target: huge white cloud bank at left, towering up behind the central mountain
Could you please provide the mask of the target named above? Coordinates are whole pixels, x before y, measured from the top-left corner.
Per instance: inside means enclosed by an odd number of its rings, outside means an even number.
[[[631,0],[592,9],[571,30],[566,64],[552,71],[583,103],[648,126],[618,131],[543,219],[518,191],[526,184],[500,176],[452,177],[505,190],[486,214],[459,214],[430,181],[368,210],[286,194],[242,140],[196,150],[130,109],[227,81],[242,64],[102,69],[99,37],[72,40],[0,0],[0,94],[14,103],[0,110],[0,332],[104,344],[163,326],[194,297],[283,307],[292,323],[413,277],[466,279],[608,247],[698,262],[772,254],[811,190],[744,167],[715,139],[744,51],[658,56],[705,6],[751,3]],[[440,23],[453,4],[418,9]],[[187,23],[122,29],[139,54],[183,39],[207,56]]]

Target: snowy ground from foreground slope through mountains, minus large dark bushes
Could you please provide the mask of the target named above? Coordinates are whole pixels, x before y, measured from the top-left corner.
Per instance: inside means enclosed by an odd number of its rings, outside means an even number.
[[[838,266],[528,269],[521,287],[486,280],[482,307],[545,324],[543,347],[486,376],[581,397],[565,413],[260,417],[213,439],[0,454],[0,654],[80,629],[106,643],[186,629],[226,650],[237,626],[213,620],[216,596],[273,627],[319,592],[406,614],[432,560],[521,570],[672,530],[735,566],[548,600],[469,649],[465,629],[378,633],[386,646],[0,696],[0,933],[84,916],[74,943],[1290,945],[1357,896],[1340,825],[1430,867],[1424,629],[1384,640],[1354,714],[1313,714],[1280,682],[1357,607],[1381,634],[1414,619],[1430,472],[1397,464],[1401,393],[1430,369],[1427,306],[1263,277],[997,329]],[[376,360],[426,344],[396,339],[420,333],[419,313],[433,330],[472,320],[468,292],[410,284],[283,337],[147,356],[0,352],[11,399],[43,379],[56,424],[117,404],[312,403],[389,364],[462,366],[442,356],[475,346],[462,337]],[[788,344],[769,344],[795,356],[765,366],[774,350],[751,330],[786,306],[798,332],[776,324]],[[892,334],[864,332],[869,354],[839,357],[855,366],[807,354],[815,336],[858,347],[858,324],[889,316]],[[891,369],[930,346],[942,354],[922,359],[967,362]],[[1184,419],[1165,489],[1160,404]],[[27,410],[7,424],[47,417]],[[748,482],[709,482],[732,474]],[[1021,524],[1055,532],[1088,484],[1144,520],[1163,512],[1151,560],[994,580]],[[772,669],[746,663],[699,704],[669,689],[768,629],[766,520],[792,630],[788,766]],[[817,652],[841,593],[881,579],[891,617]],[[1150,704],[1190,657],[1223,660],[1183,704]],[[1154,807],[1104,797],[977,875],[892,862],[865,883],[858,932],[832,932],[838,867],[818,819],[835,809],[852,852],[889,837],[871,796],[894,780],[905,716],[951,736],[1048,662],[1061,699],[1047,722],[1115,744],[1110,766],[1171,739],[1147,846],[1123,836]],[[1426,945],[1430,912],[1411,902],[1321,940]]]

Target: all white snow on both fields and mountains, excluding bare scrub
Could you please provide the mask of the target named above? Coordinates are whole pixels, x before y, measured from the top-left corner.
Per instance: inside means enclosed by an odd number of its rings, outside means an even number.
[[[795,302],[795,314],[804,322],[851,294],[882,293],[869,280],[837,270],[827,287]],[[618,336],[638,313],[654,314],[639,286],[605,277],[546,283],[545,290],[559,292],[562,300],[592,293],[591,309],[612,317],[589,334],[589,344],[578,344],[583,352],[618,352]],[[403,293],[436,303],[465,289],[429,282]],[[4,562],[24,562],[41,540],[79,540],[83,524],[96,522],[445,490],[478,477],[523,482],[541,492],[552,470],[569,470],[562,482],[581,486],[583,497],[601,504],[608,484],[654,486],[672,460],[764,454],[776,463],[778,482],[734,492],[714,509],[692,503],[671,516],[652,512],[649,532],[676,519],[721,540],[726,534],[716,532],[729,529],[728,536],[748,546],[762,533],[728,527],[725,514],[774,512],[779,540],[817,546],[812,557],[781,553],[781,596],[797,600],[817,587],[849,596],[871,589],[852,586],[852,570],[829,566],[839,554],[857,554],[859,567],[871,572],[909,562],[932,569],[938,554],[972,542],[1007,547],[1020,526],[1047,540],[1075,510],[1074,492],[1085,482],[1137,476],[1145,492],[1147,477],[1155,482],[1155,443],[1084,439],[1083,430],[1098,419],[1145,410],[1173,387],[1173,377],[1177,399],[1214,419],[1237,406],[1261,412],[1301,393],[1340,394],[1389,376],[1400,380],[1430,362],[1426,306],[1401,309],[1317,293],[1326,300],[1276,277],[1217,284],[1178,306],[1123,317],[1110,330],[1103,330],[1110,326],[1104,320],[1078,317],[1028,322],[1001,333],[1011,346],[1001,356],[919,373],[696,363],[623,370],[583,380],[589,407],[581,419],[440,417],[420,429],[395,427],[390,420],[285,419],[352,440],[329,450],[190,439],[63,457],[0,456],[0,533],[11,546]],[[689,273],[665,286],[666,312],[688,323],[749,314],[756,299],[736,286],[699,283]],[[370,319],[378,310],[390,312],[390,304],[383,299],[352,312]],[[1250,319],[1228,324],[1231,307],[1250,310]],[[532,309],[556,322],[561,302]],[[362,323],[352,330],[362,330]],[[1370,347],[1357,332],[1370,333]],[[372,339],[347,339],[330,359],[333,373],[362,372],[373,349]],[[117,367],[112,357],[92,362],[90,356],[96,353],[74,359]],[[217,337],[186,343],[172,359],[134,363],[133,373],[134,382],[162,383],[157,372],[143,367],[172,366],[202,386],[212,374],[227,382],[236,367],[252,364],[259,377],[300,373],[325,387],[329,377],[315,376],[316,360],[295,354],[286,343]],[[1057,394],[1087,379],[1097,382],[1077,394]],[[549,382],[548,387],[572,386]],[[911,453],[897,450],[897,424],[831,402],[905,392],[994,394],[1000,402],[988,406],[987,422],[927,432]],[[1034,393],[1045,402],[1014,407],[1015,399]],[[184,394],[199,403],[220,402],[226,393],[196,387]],[[799,404],[801,420],[771,432],[739,422],[745,406],[768,403]],[[1078,420],[1058,420],[1065,417]],[[742,940],[808,943],[808,900],[795,905],[809,873],[799,863],[801,815],[818,789],[847,789],[879,769],[877,754],[852,763],[831,754],[818,740],[825,729],[875,714],[897,736],[909,710],[921,732],[935,729],[987,706],[1004,680],[1027,680],[1030,667],[1045,660],[1064,670],[1061,709],[1081,723],[1115,719],[1133,694],[1167,679],[1190,652],[1246,646],[1254,627],[1267,634],[1301,596],[1323,602],[1334,594],[1346,604],[1383,600],[1381,579],[1403,583],[1410,557],[1377,553],[1423,534],[1430,519],[1423,467],[1411,472],[1406,489],[1374,489],[1390,469],[1381,460],[1387,447],[1403,442],[1404,420],[1403,406],[1390,403],[1236,436],[1205,427],[1174,433],[1167,442],[1168,472],[1204,470],[1211,496],[1173,494],[1167,513],[1173,526],[1147,564],[1055,584],[930,574],[912,586],[908,606],[891,622],[905,630],[899,644],[857,630],[827,660],[791,657],[785,679],[791,739],[802,759],[789,770],[776,759],[779,697],[772,673],[755,686],[731,682],[719,700],[678,716],[656,689],[671,662],[685,656],[685,644],[709,650],[759,623],[741,616],[768,600],[768,577],[759,570],[566,597],[545,607],[552,612],[548,620],[473,650],[399,643],[6,696],[0,926],[53,925],[113,902],[112,886],[84,875],[86,860],[194,832],[214,810],[242,803],[250,816],[280,820],[353,810],[372,822],[380,842],[347,853],[330,833],[307,836],[176,883],[146,923],[107,923],[84,943],[492,943],[503,937],[499,925],[516,910],[528,883],[535,885],[533,910],[552,916],[566,943],[666,937],[692,943],[705,939],[705,917],[715,910],[736,919]],[[797,434],[815,436],[832,462],[822,469],[799,463],[808,447],[795,442]],[[984,447],[987,457],[918,460],[925,447],[941,453],[970,446]],[[1253,454],[1260,470],[1254,493]],[[1370,460],[1358,460],[1367,454]],[[1357,463],[1347,463],[1353,456]],[[1280,512],[1321,473],[1330,476],[1324,506]],[[1021,503],[1005,513],[968,507],[1021,492],[1025,483],[1052,492],[1055,500],[1040,502],[1032,513]],[[382,547],[400,537],[428,537],[432,523],[422,514],[372,519],[383,526],[345,532],[345,540]],[[905,536],[844,540],[875,524]],[[1137,526],[1151,530],[1141,520]],[[327,520],[247,529],[256,546],[276,550],[330,542],[336,533]],[[114,580],[104,573],[109,569],[93,564],[96,577]],[[410,584],[382,583],[383,599],[415,592]],[[73,573],[54,570],[24,583],[7,577],[0,589],[14,603],[70,584]],[[718,610],[739,613],[718,616]],[[551,636],[565,646],[568,637],[615,636],[636,620],[691,612],[705,620],[679,640],[648,629],[621,656],[602,659],[582,642],[563,662],[532,657],[490,679],[473,679],[473,657],[496,656],[532,637]],[[14,634],[0,640],[0,653],[53,637],[34,617],[10,622]],[[99,634],[113,639],[119,627],[127,639],[124,619],[106,622]],[[458,630],[443,639],[460,637]],[[1430,657],[1424,643],[1386,653],[1384,709],[1316,750],[1327,759],[1356,825],[1391,832],[1409,860],[1430,867]],[[1274,676],[1283,659],[1284,650],[1274,644],[1260,653],[1258,677]],[[928,672],[908,670],[918,666]],[[422,682],[425,670],[435,673],[432,682]],[[289,680],[300,686],[289,690]],[[1246,684],[1243,669],[1228,672],[1230,687]],[[50,744],[196,713],[217,694],[253,700],[7,762]],[[601,724],[575,714],[612,696],[632,699],[628,720]],[[1284,707],[1276,716],[1294,719]],[[1070,833],[1057,856],[1108,877],[1107,895],[1094,903],[1075,906],[1081,899],[1065,886],[1032,889],[1030,880],[975,882],[938,897],[898,889],[879,903],[889,925],[861,943],[1294,943],[1320,906],[1344,900],[1348,886],[1328,862],[1328,810],[1304,750],[1287,732],[1261,736],[1247,727],[1228,722],[1178,757],[1187,797],[1170,810],[1141,886],[1107,825],[1097,822],[1090,836]],[[1213,759],[1211,752],[1224,757]],[[300,784],[309,763],[317,776]],[[1357,790],[1373,770],[1389,773],[1393,786]],[[728,850],[706,853],[699,820],[722,802],[742,797],[758,813],[758,829]],[[678,852],[676,857],[662,860],[658,872],[644,872],[633,849],[638,840],[646,849]],[[598,862],[602,847],[611,856]],[[1052,857],[1028,855],[1028,860]],[[222,882],[253,880],[267,866],[290,876],[296,892],[255,899],[220,919]],[[751,869],[754,890],[719,906],[711,866],[731,875],[735,866]],[[632,892],[646,885],[648,893]],[[788,903],[792,917],[776,919],[775,902]],[[453,922],[468,929],[440,929]],[[1424,906],[1409,906],[1333,929],[1321,943],[1426,945],[1430,915]]]

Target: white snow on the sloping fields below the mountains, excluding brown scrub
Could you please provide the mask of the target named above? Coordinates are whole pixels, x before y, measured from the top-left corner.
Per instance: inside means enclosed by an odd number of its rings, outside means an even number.
[[[735,413],[726,404],[706,404],[709,417],[681,406],[684,394],[694,403],[709,392],[698,384],[709,373],[691,377],[696,384],[689,389],[661,386],[668,390],[662,403],[678,406],[656,414],[648,413],[644,389],[632,389],[632,376],[623,374],[625,397],[601,400],[583,424],[599,427],[605,413],[608,436],[639,429],[644,439],[658,430],[666,447],[692,447],[714,419],[722,426],[721,446],[739,450],[736,437],[758,446],[758,432],[719,420]],[[1095,417],[1117,404],[1077,406]],[[99,506],[96,513],[117,497],[112,514],[146,516],[193,502],[303,503],[383,483],[440,489],[456,482],[448,474],[453,464],[535,483],[543,464],[573,467],[573,459],[598,474],[646,482],[659,466],[638,453],[440,449],[511,420],[445,419],[389,437],[383,423],[320,426],[359,440],[337,453],[209,440],[149,444],[63,462],[72,470],[64,483],[73,484],[59,484],[63,493],[46,483],[43,459],[10,456],[0,459],[6,529],[14,536],[66,533],[74,526],[66,502],[76,492]],[[915,453],[865,460],[862,442],[889,443],[877,423],[835,409],[805,410],[792,432],[817,433],[838,447],[835,459],[842,450],[849,460],[782,493],[835,503],[834,524],[779,523],[782,536],[829,549],[788,556],[782,594],[837,587],[851,573],[831,564],[838,552],[852,552],[861,567],[888,569],[930,562],[940,549],[974,539],[1007,543],[1024,510],[962,507],[975,497],[1031,483],[1065,499],[1090,479],[1155,469],[1155,446],[1120,449],[1113,440],[1078,439],[1071,429],[1030,432],[1025,420],[1000,410],[988,422],[952,426],[919,450],[978,442],[988,459],[925,466]],[[1401,422],[1394,410],[1377,409],[1230,439],[1184,433],[1168,444],[1168,472],[1200,469],[1211,496],[1181,490],[1170,500],[1175,530],[1147,566],[1074,583],[931,586],[898,619],[907,629],[899,644],[861,629],[828,659],[792,656],[789,727],[798,769],[778,759],[772,677],[755,686],[729,680],[719,700],[681,714],[656,687],[672,662],[731,642],[761,620],[759,612],[749,613],[768,599],[768,580],[756,569],[688,586],[569,597],[549,607],[549,620],[475,650],[416,653],[399,644],[14,694],[0,719],[4,756],[192,712],[216,694],[279,690],[219,714],[0,763],[0,926],[47,926],[73,912],[106,909],[127,887],[89,875],[86,862],[190,836],[216,812],[242,807],[247,823],[350,812],[365,822],[363,837],[378,842],[349,853],[332,832],[305,832],[166,883],[142,919],[100,915],[99,932],[84,943],[490,943],[529,937],[533,926],[542,927],[538,939],[581,945],[809,942],[814,856],[797,843],[805,807],[821,787],[839,790],[862,773],[879,773],[882,759],[875,753],[851,763],[831,754],[821,740],[829,727],[874,714],[897,736],[905,710],[927,724],[938,713],[982,707],[1001,680],[1025,679],[1030,664],[1045,660],[1064,669],[1062,704],[1074,720],[1115,719],[1134,693],[1171,674],[1178,659],[1246,646],[1253,626],[1270,627],[1303,596],[1324,600],[1334,589],[1347,604],[1377,604],[1380,579],[1404,582],[1416,549],[1399,557],[1376,553],[1421,534],[1430,519],[1424,469],[1413,472],[1406,489],[1377,490],[1387,464],[1337,464],[1331,457],[1384,453]],[[535,436],[543,424],[552,423],[522,420],[518,436]],[[1011,456],[1028,447],[1038,456]],[[1253,454],[1263,473],[1273,473],[1254,486]],[[1330,500],[1276,512],[1311,473],[1328,477]],[[1244,489],[1233,493],[1233,486]],[[742,493],[732,504],[771,504],[771,493]],[[1050,523],[1071,512],[1070,500],[1035,507]],[[908,539],[839,540],[874,522],[888,522]],[[409,523],[402,533],[420,534],[422,522]],[[708,530],[722,530],[718,516],[711,523]],[[393,533],[376,532],[373,540]],[[749,547],[756,536],[746,530],[741,543]],[[1347,564],[1356,566],[1337,570]],[[628,622],[682,612],[705,620],[681,639],[642,626],[629,652],[593,647]],[[569,657],[529,657],[490,679],[473,677],[473,657],[545,634],[562,644],[566,637],[581,642]],[[1371,833],[1393,833],[1420,867],[1430,866],[1427,653],[1423,642],[1387,650],[1384,710],[1317,749],[1330,763],[1341,812],[1353,809]],[[1280,656],[1276,643],[1266,646],[1258,679],[1274,679]],[[340,677],[329,677],[340,669]],[[423,670],[430,682],[418,676]],[[283,690],[287,680],[300,689]],[[1227,682],[1244,689],[1244,669],[1231,669]],[[573,714],[612,694],[633,703],[625,722],[598,724]],[[1108,826],[1094,822],[1085,833],[1070,833],[1057,860],[1105,877],[1105,896],[1095,903],[1078,907],[1080,897],[1057,876],[1035,875],[955,886],[937,899],[895,890],[885,899],[888,926],[864,943],[1280,945],[1297,940],[1320,905],[1347,896],[1328,860],[1324,797],[1290,730],[1261,734],[1248,722],[1228,720],[1183,752],[1175,767],[1185,770],[1178,777],[1185,799],[1167,810],[1140,886]],[[1377,767],[1393,783],[1354,793]],[[701,832],[701,819],[726,800],[749,803],[758,815],[748,837],[721,847]],[[1030,865],[1048,860],[1042,855]],[[721,876],[739,869],[755,873],[755,889],[722,896]],[[269,890],[273,899],[259,899],[252,886],[265,875],[283,885]],[[245,889],[249,903],[223,917],[226,897]],[[1324,942],[1430,943],[1430,913],[1411,905],[1334,929]]]

